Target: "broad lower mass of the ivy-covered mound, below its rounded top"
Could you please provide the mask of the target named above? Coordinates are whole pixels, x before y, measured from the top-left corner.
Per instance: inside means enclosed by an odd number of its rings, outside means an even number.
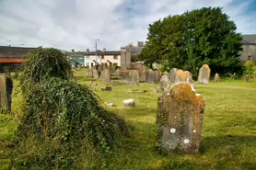
[[[41,154],[32,156],[36,161],[30,163],[42,169],[74,167],[81,155],[87,155],[84,160],[92,159],[92,155],[102,156],[110,152],[120,135],[128,134],[124,121],[100,107],[89,89],[59,78],[34,86],[17,130],[21,145],[45,147]],[[33,139],[33,143],[28,139]],[[70,157],[73,159],[67,160]]]

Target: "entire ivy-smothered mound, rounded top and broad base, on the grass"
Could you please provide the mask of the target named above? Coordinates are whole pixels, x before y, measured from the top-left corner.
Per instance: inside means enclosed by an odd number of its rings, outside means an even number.
[[[103,108],[89,88],[69,80],[69,62],[57,50],[39,49],[29,55],[12,164],[17,169],[102,168],[120,137],[129,136],[128,126]],[[44,65],[50,71],[41,68]]]

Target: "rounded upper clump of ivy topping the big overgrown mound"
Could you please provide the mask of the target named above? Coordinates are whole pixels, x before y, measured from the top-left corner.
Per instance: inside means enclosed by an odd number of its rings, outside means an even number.
[[[27,62],[23,65],[22,90],[30,89],[49,77],[60,77],[67,80],[71,76],[71,64],[64,53],[57,49],[42,49],[30,51],[25,56]]]

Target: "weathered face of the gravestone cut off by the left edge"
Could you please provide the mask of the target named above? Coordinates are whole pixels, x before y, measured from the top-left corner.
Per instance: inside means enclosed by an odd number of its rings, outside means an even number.
[[[0,75],[0,109],[7,108],[6,78]]]

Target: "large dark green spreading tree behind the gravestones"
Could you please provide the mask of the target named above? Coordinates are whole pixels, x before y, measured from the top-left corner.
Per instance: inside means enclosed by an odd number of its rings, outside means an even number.
[[[233,72],[242,37],[228,19],[221,8],[204,7],[157,20],[149,25],[148,43],[140,59],[149,66],[162,64],[163,71],[175,67],[195,75],[206,63],[215,73]]]

